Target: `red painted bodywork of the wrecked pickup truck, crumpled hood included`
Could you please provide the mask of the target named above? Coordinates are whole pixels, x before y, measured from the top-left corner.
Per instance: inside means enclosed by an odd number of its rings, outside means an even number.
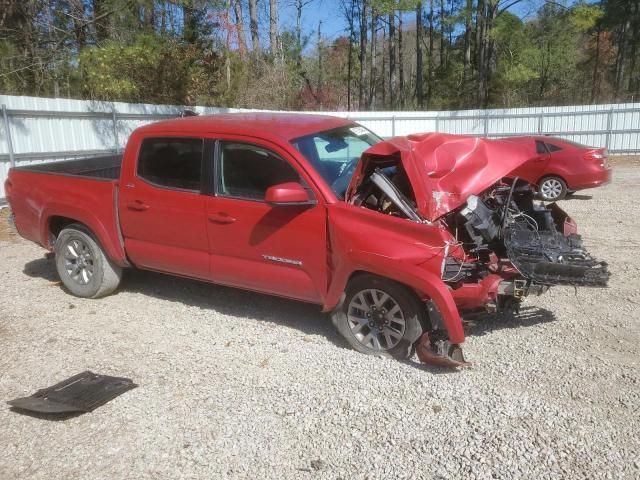
[[[446,226],[435,220],[525,163],[530,152],[516,142],[445,134],[375,145],[363,155],[350,188],[376,155],[398,155],[414,187],[418,210],[434,221],[419,224],[339,200],[290,143],[351,124],[340,118],[289,114],[160,122],[131,135],[119,181],[12,169],[6,191],[20,234],[48,249],[52,218],[68,217],[87,225],[119,265],[313,302],[325,311],[339,303],[353,275],[368,272],[433,300],[450,342],[463,342],[458,308],[493,300],[500,279],[513,273],[496,264],[496,274],[453,290],[440,278],[443,259],[446,253],[460,260],[463,252],[453,246],[455,239]],[[172,190],[138,178],[142,140],[170,136],[257,145],[288,162],[301,182],[273,187],[266,201],[256,201]]]

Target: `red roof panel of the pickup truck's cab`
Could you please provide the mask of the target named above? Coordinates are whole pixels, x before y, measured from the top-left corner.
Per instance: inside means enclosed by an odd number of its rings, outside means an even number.
[[[145,134],[156,131],[158,133],[179,131],[189,134],[230,133],[262,138],[277,137],[279,140],[289,141],[315,132],[353,125],[353,123],[346,118],[308,113],[220,113],[151,123],[138,128],[138,131]]]

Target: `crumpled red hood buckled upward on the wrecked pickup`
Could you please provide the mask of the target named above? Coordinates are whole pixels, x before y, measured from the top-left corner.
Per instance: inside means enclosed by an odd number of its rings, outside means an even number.
[[[452,135],[415,134],[395,137],[367,149],[347,189],[349,200],[375,168],[400,160],[413,187],[416,208],[434,221],[479,195],[535,155],[509,140]]]

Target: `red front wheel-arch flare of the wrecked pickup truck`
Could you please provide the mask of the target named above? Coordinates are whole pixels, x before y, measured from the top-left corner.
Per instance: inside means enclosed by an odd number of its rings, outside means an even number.
[[[449,341],[464,342],[460,313],[447,285],[424,268],[376,253],[359,250],[346,252],[345,258],[334,271],[324,311],[330,311],[338,305],[349,279],[359,271],[395,280],[415,290],[422,299],[432,300],[442,315]]]

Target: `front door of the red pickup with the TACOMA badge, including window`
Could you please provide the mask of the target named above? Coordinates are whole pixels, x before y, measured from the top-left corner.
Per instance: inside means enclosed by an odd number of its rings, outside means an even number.
[[[211,279],[321,303],[327,281],[326,209],[287,152],[221,139],[206,200]],[[267,188],[299,182],[312,204],[274,206]]]

